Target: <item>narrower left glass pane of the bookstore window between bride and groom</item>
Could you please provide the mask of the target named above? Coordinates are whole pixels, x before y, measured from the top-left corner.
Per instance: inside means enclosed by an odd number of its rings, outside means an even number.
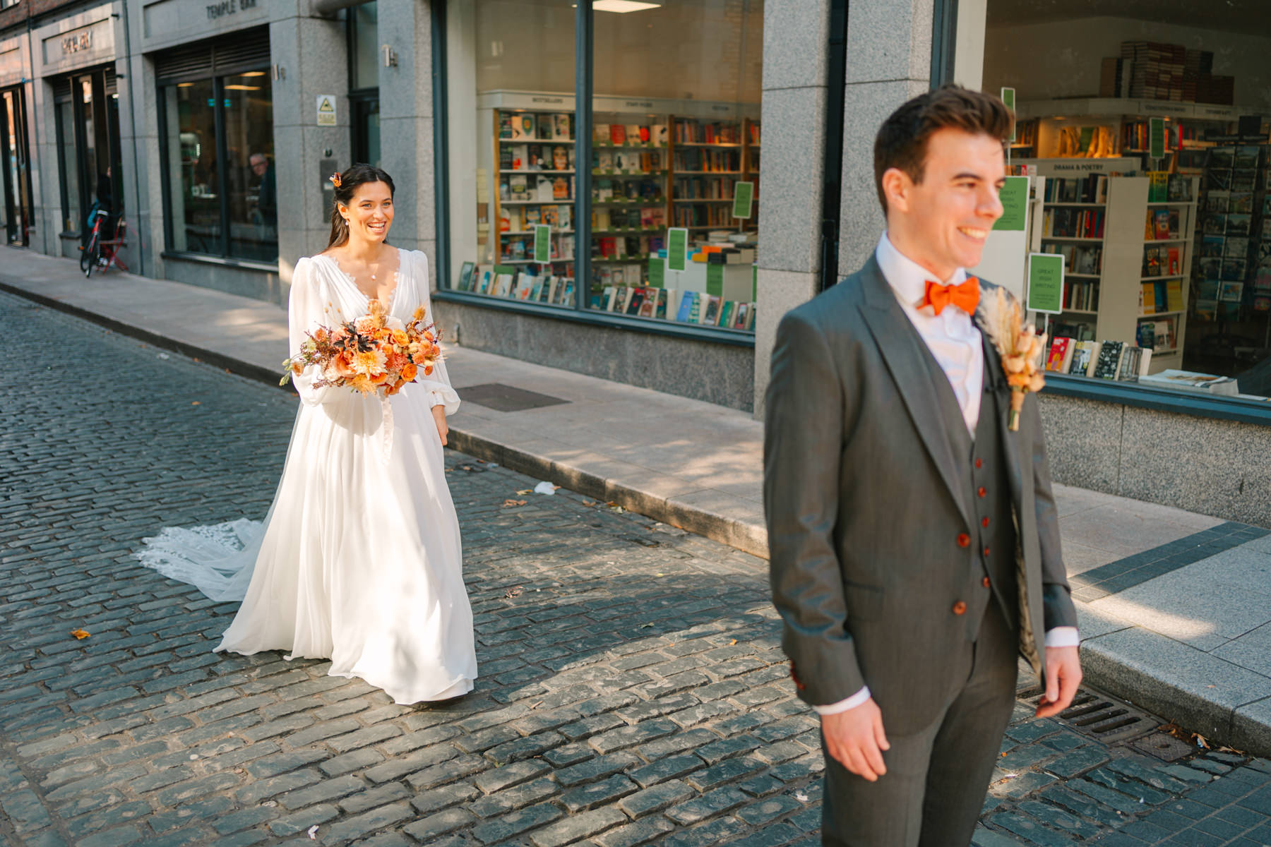
[[[574,307],[574,17],[569,0],[447,6],[451,288]]]

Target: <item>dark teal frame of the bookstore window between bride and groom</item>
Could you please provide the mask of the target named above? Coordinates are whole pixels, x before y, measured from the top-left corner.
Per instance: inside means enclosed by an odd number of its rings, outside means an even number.
[[[433,267],[437,287],[435,300],[451,301],[519,312],[553,317],[569,323],[609,326],[646,333],[651,335],[670,335],[675,338],[713,342],[732,347],[755,347],[755,330],[737,330],[723,326],[700,326],[681,324],[672,320],[651,320],[636,315],[619,315],[587,307],[587,295],[591,290],[591,168],[583,163],[591,161],[591,117],[594,98],[592,56],[595,51],[595,11],[590,3],[580,3],[574,8],[574,160],[578,163],[574,174],[574,302],[572,306],[550,306],[531,303],[503,297],[488,297],[469,291],[454,291],[449,287],[450,274],[450,232],[446,225],[450,215],[450,155],[446,140],[449,126],[449,104],[445,95],[446,67],[446,6],[449,0],[430,4],[432,9],[432,98],[433,98],[433,161],[436,185],[436,250]],[[585,131],[586,130],[586,131]],[[670,221],[667,222],[670,225]],[[583,283],[586,281],[586,283]],[[441,284],[445,282],[445,287]]]

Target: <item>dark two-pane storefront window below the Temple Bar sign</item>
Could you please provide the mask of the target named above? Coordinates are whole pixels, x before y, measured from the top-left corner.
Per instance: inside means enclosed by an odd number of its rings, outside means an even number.
[[[268,71],[164,85],[160,103],[170,249],[276,260],[278,202]]]

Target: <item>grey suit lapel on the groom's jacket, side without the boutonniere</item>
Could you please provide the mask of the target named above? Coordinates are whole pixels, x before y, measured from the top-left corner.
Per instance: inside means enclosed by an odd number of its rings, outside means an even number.
[[[891,378],[900,389],[905,409],[918,429],[927,453],[932,457],[953,502],[957,503],[962,518],[970,524],[971,514],[960,490],[957,467],[941,420],[939,399],[935,396],[924,363],[925,352],[920,347],[923,339],[896,302],[896,295],[873,257],[860,272],[860,284],[864,290],[860,314],[869,326]]]

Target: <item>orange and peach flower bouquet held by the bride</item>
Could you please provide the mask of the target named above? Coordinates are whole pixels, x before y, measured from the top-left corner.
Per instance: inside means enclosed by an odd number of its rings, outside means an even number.
[[[411,320],[385,315],[384,305],[372,300],[370,312],[336,328],[319,326],[306,333],[300,352],[282,363],[286,368],[278,385],[291,375],[316,364],[322,377],[313,387],[348,386],[360,394],[391,396],[419,372],[431,376],[441,359],[437,342],[441,333],[425,320],[423,306]]]

